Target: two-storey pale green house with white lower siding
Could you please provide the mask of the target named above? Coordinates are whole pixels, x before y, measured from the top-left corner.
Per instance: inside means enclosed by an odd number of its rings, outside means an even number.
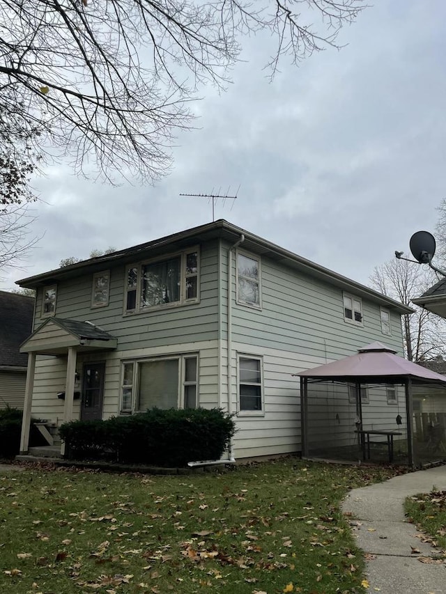
[[[411,311],[223,220],[19,284],[37,290],[26,421],[222,407],[236,458],[300,451],[292,374],[376,340],[402,353]]]

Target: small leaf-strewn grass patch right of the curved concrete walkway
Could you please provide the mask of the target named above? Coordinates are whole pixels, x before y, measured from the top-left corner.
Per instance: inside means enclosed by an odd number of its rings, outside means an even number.
[[[433,487],[430,493],[408,497],[404,509],[410,522],[417,524],[430,542],[442,549],[440,556],[446,557],[446,491]]]

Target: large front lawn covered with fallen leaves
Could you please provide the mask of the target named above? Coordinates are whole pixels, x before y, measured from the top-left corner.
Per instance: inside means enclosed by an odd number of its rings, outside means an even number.
[[[295,458],[185,476],[0,473],[0,592],[364,592],[339,503],[391,475]]]

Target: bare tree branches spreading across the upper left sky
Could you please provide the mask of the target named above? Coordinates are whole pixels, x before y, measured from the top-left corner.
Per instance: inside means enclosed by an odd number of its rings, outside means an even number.
[[[339,30],[365,7],[365,0],[1,0],[0,111],[37,132],[29,142],[39,155],[56,146],[75,173],[93,161],[109,181],[119,173],[153,182],[169,171],[176,132],[192,125],[188,103],[203,84],[224,88],[244,35],[275,36],[273,78],[285,56],[297,64],[339,47]]]

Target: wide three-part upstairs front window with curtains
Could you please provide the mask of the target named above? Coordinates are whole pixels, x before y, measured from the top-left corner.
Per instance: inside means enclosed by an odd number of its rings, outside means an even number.
[[[198,276],[197,249],[134,265],[127,270],[125,311],[134,313],[197,302]]]

